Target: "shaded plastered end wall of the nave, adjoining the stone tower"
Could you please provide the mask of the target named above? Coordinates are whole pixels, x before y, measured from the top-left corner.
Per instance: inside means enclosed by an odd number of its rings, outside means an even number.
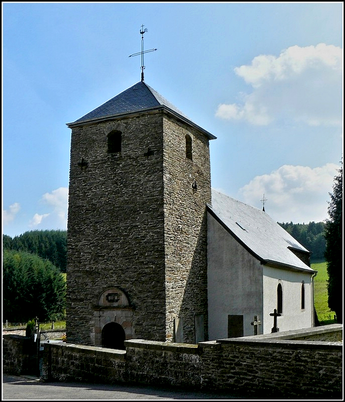
[[[263,321],[262,265],[209,213],[207,298],[209,340],[227,338],[228,315],[243,315],[244,336],[254,335],[254,315]]]

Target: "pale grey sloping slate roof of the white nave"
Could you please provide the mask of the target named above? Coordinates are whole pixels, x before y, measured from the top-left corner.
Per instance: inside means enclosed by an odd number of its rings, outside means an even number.
[[[251,207],[212,189],[212,205],[208,211],[225,229],[263,263],[315,272],[288,247],[308,250],[297,242],[264,211]]]

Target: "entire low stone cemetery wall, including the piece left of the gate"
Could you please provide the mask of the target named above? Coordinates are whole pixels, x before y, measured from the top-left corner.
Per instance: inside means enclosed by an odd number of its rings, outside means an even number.
[[[341,324],[327,327],[331,337],[342,333]],[[305,333],[323,333],[327,339],[325,329],[315,327]],[[126,351],[47,343],[42,379],[243,391],[253,397],[341,399],[342,342],[293,339],[302,335],[302,330],[286,331],[196,345],[132,339],[125,342]],[[19,374],[24,367],[14,356],[18,353],[25,360],[19,339],[24,337],[18,337],[4,336],[4,372]]]

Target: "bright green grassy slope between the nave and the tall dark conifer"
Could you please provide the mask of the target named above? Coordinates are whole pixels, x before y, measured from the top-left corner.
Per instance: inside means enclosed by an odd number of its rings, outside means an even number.
[[[314,277],[314,306],[317,318],[320,324],[332,324],[335,313],[328,308],[326,263],[311,264],[311,268],[317,271],[317,275]]]

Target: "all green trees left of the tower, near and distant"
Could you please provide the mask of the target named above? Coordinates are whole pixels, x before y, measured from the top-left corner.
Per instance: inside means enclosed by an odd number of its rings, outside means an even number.
[[[67,232],[35,230],[3,235],[3,318],[41,322],[65,317]]]

